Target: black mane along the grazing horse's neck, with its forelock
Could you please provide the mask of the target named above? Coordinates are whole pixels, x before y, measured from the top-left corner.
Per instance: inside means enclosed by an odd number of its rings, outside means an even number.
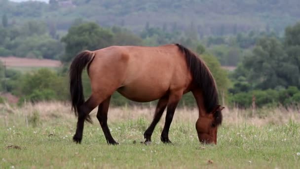
[[[204,105],[207,113],[212,112],[213,109],[219,104],[218,89],[213,75],[209,71],[206,64],[200,58],[198,58],[196,54],[181,44],[176,43],[176,45],[186,56],[188,68],[192,74],[194,83],[202,90]],[[218,119],[217,124],[222,123],[221,111],[215,113],[214,117]]]

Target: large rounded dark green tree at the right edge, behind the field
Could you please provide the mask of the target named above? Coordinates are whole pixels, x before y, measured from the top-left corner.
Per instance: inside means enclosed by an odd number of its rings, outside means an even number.
[[[275,38],[264,37],[247,55],[242,66],[248,72],[247,81],[255,88],[268,89],[289,85],[299,86],[299,70]]]

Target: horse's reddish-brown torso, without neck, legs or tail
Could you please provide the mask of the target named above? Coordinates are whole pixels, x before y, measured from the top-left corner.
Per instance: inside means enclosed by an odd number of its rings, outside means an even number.
[[[115,84],[117,91],[131,100],[155,100],[170,90],[184,90],[191,80],[185,56],[174,44],[110,46],[95,53],[90,66],[98,75],[95,79],[102,76],[102,81]],[[100,81],[101,86],[104,82]]]

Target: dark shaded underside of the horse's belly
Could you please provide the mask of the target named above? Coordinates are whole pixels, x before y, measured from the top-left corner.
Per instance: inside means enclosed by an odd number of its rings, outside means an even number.
[[[157,87],[159,88],[159,87]],[[167,88],[157,89],[148,86],[123,86],[117,89],[117,91],[124,97],[136,101],[136,102],[149,102],[157,100],[164,96],[167,92]]]

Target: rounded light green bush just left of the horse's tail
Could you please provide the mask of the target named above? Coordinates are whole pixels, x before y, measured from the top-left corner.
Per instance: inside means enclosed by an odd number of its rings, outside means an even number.
[[[39,69],[36,72],[25,75],[14,75],[8,81],[10,87],[8,91],[18,96],[20,104],[26,99],[31,102],[49,100],[67,100],[69,96],[68,81],[66,77],[59,76],[49,69]]]

